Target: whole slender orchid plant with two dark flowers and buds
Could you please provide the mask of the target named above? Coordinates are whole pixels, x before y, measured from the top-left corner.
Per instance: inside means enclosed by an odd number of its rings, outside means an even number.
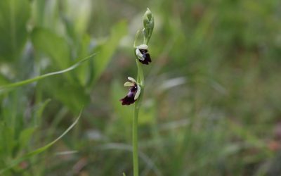
[[[145,81],[143,76],[143,64],[148,65],[151,63],[150,54],[148,52],[148,42],[152,35],[154,27],[154,17],[148,8],[143,15],[143,44],[136,46],[139,31],[136,33],[136,38],[133,44],[134,54],[136,57],[136,65],[138,68],[137,79],[128,77],[128,82],[125,82],[125,87],[129,88],[129,93],[120,101],[122,105],[130,105],[135,103],[133,112],[133,176],[138,176],[138,112],[141,107],[141,99],[143,96]]]

